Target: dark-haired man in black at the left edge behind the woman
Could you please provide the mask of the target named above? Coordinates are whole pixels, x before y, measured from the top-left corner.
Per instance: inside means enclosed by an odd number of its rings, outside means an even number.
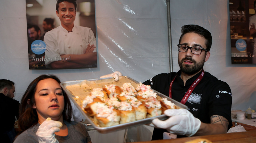
[[[0,79],[0,137],[1,142],[12,143],[16,136],[14,130],[15,117],[19,119],[20,103],[14,99],[14,83],[7,79]]]

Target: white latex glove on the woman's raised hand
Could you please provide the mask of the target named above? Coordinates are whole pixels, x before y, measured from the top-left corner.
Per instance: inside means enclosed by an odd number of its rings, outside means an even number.
[[[36,132],[39,143],[59,143],[55,138],[55,132],[60,131],[62,123],[47,118],[39,127]]]

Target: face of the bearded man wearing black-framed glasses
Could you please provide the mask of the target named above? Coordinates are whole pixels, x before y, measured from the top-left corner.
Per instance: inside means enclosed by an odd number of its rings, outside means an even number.
[[[198,46],[206,49],[205,45],[206,39],[196,33],[186,33],[181,38],[181,43],[187,46]],[[203,68],[204,62],[208,60],[210,52],[205,52],[204,50],[200,55],[194,55],[190,49],[186,52],[178,54],[178,63],[181,71],[192,75],[196,74]]]

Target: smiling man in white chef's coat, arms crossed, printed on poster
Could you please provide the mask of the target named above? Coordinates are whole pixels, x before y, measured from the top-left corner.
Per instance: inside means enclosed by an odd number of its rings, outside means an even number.
[[[76,0],[57,0],[61,25],[47,32],[45,64],[53,69],[96,67],[96,38],[91,28],[74,25]]]

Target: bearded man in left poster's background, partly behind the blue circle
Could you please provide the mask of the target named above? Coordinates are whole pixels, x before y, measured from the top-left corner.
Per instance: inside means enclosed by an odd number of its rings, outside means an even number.
[[[37,58],[44,58],[45,54],[37,55],[32,52],[31,44],[34,40],[42,40],[41,37],[41,30],[37,25],[30,25],[27,27],[28,29],[28,51],[29,51],[29,69],[45,69],[44,61],[37,61]]]

